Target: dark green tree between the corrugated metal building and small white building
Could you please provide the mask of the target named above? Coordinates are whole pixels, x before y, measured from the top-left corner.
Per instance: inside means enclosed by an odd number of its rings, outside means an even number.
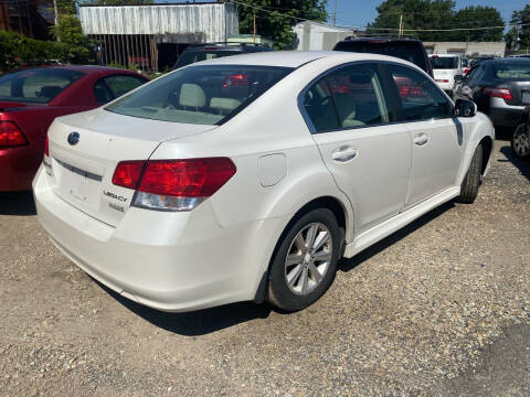
[[[256,33],[272,39],[276,50],[292,49],[296,34],[292,28],[300,19],[326,21],[327,0],[244,0],[240,2],[240,32],[254,32],[256,15]]]

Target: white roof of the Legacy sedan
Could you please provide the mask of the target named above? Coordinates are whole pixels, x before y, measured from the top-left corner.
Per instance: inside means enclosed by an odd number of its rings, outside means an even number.
[[[246,53],[241,55],[232,55],[218,57],[213,60],[202,61],[193,65],[259,65],[259,66],[282,66],[282,67],[299,67],[309,62],[320,58],[336,58],[341,62],[354,61],[392,61],[403,64],[410,64],[406,61],[386,55],[378,55],[370,53],[353,53],[346,51],[271,51]],[[191,66],[191,65],[190,65]]]

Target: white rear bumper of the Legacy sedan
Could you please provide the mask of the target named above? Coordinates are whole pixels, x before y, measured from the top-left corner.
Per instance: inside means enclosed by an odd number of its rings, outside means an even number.
[[[254,299],[273,250],[261,237],[280,224],[223,228],[205,202],[189,213],[131,207],[115,228],[57,197],[42,168],[33,189],[39,221],[59,249],[121,296],[162,311]]]

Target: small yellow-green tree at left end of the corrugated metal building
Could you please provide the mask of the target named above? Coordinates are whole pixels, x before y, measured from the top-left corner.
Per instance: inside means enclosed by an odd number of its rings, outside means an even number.
[[[92,42],[83,34],[81,22],[75,15],[61,15],[59,24],[51,28],[57,39],[59,54],[62,61],[87,63],[92,57]]]

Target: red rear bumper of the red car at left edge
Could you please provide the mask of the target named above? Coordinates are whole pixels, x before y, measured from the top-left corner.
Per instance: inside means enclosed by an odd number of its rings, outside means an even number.
[[[30,190],[42,155],[32,146],[0,149],[0,192]]]

